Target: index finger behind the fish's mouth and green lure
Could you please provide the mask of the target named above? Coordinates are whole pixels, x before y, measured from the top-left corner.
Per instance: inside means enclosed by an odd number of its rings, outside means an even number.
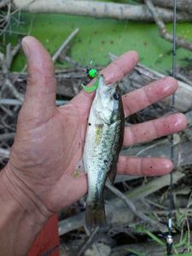
[[[105,67],[101,73],[104,75],[105,83],[112,84],[122,79],[127,73],[137,65],[138,55],[136,51],[128,51],[124,55],[120,55],[115,61]],[[93,84],[95,80],[92,80],[90,84]],[[88,86],[90,85],[88,84]],[[87,111],[87,106],[90,105],[95,93],[87,93],[81,90],[78,96],[73,98],[73,104],[81,106],[81,109]]]

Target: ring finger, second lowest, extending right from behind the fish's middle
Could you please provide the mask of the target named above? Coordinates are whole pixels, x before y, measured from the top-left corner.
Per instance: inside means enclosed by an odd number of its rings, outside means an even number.
[[[125,126],[124,146],[148,142],[158,137],[182,131],[186,125],[187,119],[184,114],[174,113],[143,124]]]

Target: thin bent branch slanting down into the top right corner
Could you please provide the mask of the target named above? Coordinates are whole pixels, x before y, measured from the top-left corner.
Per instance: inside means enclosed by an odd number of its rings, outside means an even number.
[[[157,9],[154,8],[154,4],[152,3],[152,1],[145,0],[145,3],[148,6],[148,9],[150,10],[151,14],[154,16],[154,21],[155,21],[156,25],[160,29],[160,36],[162,38],[165,38],[167,41],[172,42],[173,36],[166,31],[165,23],[160,18],[160,15],[158,14]],[[192,43],[183,38],[176,38],[176,44],[177,44],[177,46],[181,46],[184,49],[192,50]]]

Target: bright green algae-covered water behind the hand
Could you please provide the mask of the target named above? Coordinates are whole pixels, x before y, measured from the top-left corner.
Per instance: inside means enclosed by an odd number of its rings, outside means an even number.
[[[18,19],[18,15],[15,15]],[[13,19],[12,19],[13,20]],[[26,34],[37,37],[53,54],[67,36],[79,27],[79,34],[73,39],[70,55],[79,64],[106,65],[109,53],[120,55],[127,50],[137,50],[141,62],[151,68],[166,72],[172,68],[172,44],[160,38],[157,26],[149,23],[94,19],[69,15],[30,15],[22,14],[20,22],[9,27],[4,43],[15,44]],[[172,32],[172,25],[167,25]],[[192,24],[177,25],[177,34],[192,40]],[[177,65],[185,66],[192,54],[185,49],[177,49]],[[25,65],[24,58],[15,58],[14,69],[20,71]],[[65,66],[65,63],[60,63]]]

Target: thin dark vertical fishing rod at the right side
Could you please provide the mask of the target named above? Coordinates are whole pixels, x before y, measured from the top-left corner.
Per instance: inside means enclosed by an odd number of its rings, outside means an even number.
[[[172,30],[172,77],[176,79],[176,26],[177,26],[177,0],[173,0],[173,30]],[[171,98],[171,111],[175,110],[175,94]],[[171,160],[174,165],[174,136],[172,135],[172,145],[171,145]],[[170,185],[169,185],[169,213],[168,213],[168,235],[166,236],[166,253],[167,255],[172,255],[172,172],[170,173]]]

